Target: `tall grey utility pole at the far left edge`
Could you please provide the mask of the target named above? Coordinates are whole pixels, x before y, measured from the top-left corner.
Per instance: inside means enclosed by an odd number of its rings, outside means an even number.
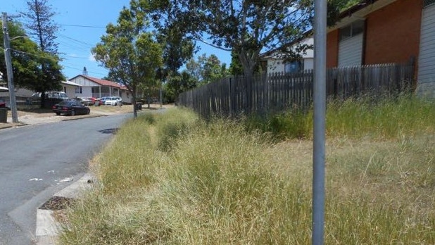
[[[12,122],[18,122],[17,103],[15,102],[15,87],[13,85],[11,48],[9,46],[8,14],[5,12],[3,13],[1,23],[3,25],[4,59],[6,61],[6,72],[8,75],[9,106],[11,107]]]

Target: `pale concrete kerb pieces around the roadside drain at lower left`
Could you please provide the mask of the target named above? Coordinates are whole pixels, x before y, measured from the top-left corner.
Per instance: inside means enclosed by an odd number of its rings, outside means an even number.
[[[69,179],[65,179],[68,181]],[[73,182],[68,187],[54,194],[54,197],[80,199],[83,191],[92,188],[95,178],[92,174],[85,174],[79,180]],[[54,217],[55,211],[38,208],[36,224],[36,244],[51,245],[57,243],[58,234],[61,231],[61,224]]]

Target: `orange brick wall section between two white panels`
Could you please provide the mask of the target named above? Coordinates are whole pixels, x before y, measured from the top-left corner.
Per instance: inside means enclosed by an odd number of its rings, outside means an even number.
[[[417,61],[421,19],[422,0],[398,0],[367,15],[364,63]]]

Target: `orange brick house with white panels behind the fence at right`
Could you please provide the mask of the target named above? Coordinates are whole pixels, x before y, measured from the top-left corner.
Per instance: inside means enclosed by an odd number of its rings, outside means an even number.
[[[435,0],[364,0],[327,31],[327,68],[414,63],[417,94],[435,98]]]

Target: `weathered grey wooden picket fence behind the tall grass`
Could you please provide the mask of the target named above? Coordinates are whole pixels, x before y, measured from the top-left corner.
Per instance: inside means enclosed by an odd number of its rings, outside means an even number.
[[[358,65],[327,70],[328,97],[384,96],[410,91],[412,64]],[[179,94],[179,106],[203,117],[270,113],[289,108],[305,110],[313,103],[313,70],[293,74],[227,77]]]

